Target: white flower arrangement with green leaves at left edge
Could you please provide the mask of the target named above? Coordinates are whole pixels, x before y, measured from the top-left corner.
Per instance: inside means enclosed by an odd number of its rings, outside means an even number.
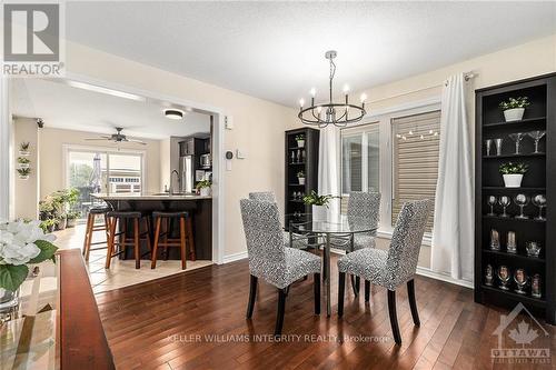
[[[29,266],[53,261],[56,237],[46,234],[40,221],[0,223],[0,288],[16,291],[29,274]]]

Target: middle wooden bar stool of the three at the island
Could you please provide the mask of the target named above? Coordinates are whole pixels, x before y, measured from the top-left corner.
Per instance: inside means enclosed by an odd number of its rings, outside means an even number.
[[[117,257],[126,252],[127,246],[133,246],[133,254],[136,259],[136,269],[141,268],[141,243],[140,240],[145,239],[147,241],[147,247],[149,252],[152,251],[150,246],[150,226],[149,219],[143,213],[139,211],[110,211],[107,213],[108,224],[110,228],[110,238],[108,242],[108,253],[106,257],[106,268],[110,268],[110,261],[113,257]],[[127,238],[126,228],[127,220],[133,220],[133,236],[132,238]],[[146,231],[141,232],[140,221],[145,220]],[[123,222],[122,222],[123,221]],[[116,232],[116,227],[119,223],[122,231]],[[116,241],[116,237],[119,237],[119,241]],[[120,250],[115,252],[116,247]],[[147,253],[145,253],[147,254]]]

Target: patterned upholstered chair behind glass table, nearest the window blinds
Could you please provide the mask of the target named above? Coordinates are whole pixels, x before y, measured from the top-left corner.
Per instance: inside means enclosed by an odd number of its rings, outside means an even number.
[[[379,192],[365,192],[365,191],[351,191],[349,192],[348,217],[365,217],[371,219],[374,224],[378,226],[378,219],[380,216],[380,193]],[[331,242],[334,248],[342,249],[347,253],[363,248],[375,248],[376,241],[374,233],[357,233],[351,239],[348,237],[332,237]],[[351,276],[351,287],[354,288],[354,293],[359,294],[359,278]]]

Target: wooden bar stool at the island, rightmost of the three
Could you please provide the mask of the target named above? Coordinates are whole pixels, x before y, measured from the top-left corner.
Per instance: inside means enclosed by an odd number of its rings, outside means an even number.
[[[193,230],[191,227],[191,217],[187,211],[177,212],[152,212],[152,218],[155,219],[155,247],[152,249],[152,262],[150,264],[151,269],[157,267],[157,251],[158,247],[165,247],[166,257],[168,258],[168,247],[179,247],[181,249],[181,269],[186,269],[186,246],[189,246],[189,253],[192,261],[195,261],[195,242],[193,242]],[[168,238],[170,233],[169,221],[171,219],[179,219],[179,238],[170,239]],[[160,232],[162,220],[165,221],[165,231]],[[159,239],[162,242],[159,242]]]

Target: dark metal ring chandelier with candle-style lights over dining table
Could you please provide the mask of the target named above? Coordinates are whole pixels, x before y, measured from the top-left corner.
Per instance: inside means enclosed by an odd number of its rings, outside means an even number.
[[[347,87],[344,88],[344,94],[346,97],[344,102],[332,102],[332,79],[336,73],[336,64],[334,59],[337,52],[335,50],[327,51],[325,58],[330,61],[330,82],[329,82],[329,101],[327,103],[315,104],[315,96],[317,91],[315,88],[310,90],[311,104],[304,109],[305,100],[299,100],[299,114],[297,117],[305,124],[315,124],[319,128],[325,128],[328,124],[334,124],[336,127],[345,127],[349,123],[355,123],[360,121],[365,117],[365,100],[367,97],[361,94],[361,104],[356,106],[349,103]]]

